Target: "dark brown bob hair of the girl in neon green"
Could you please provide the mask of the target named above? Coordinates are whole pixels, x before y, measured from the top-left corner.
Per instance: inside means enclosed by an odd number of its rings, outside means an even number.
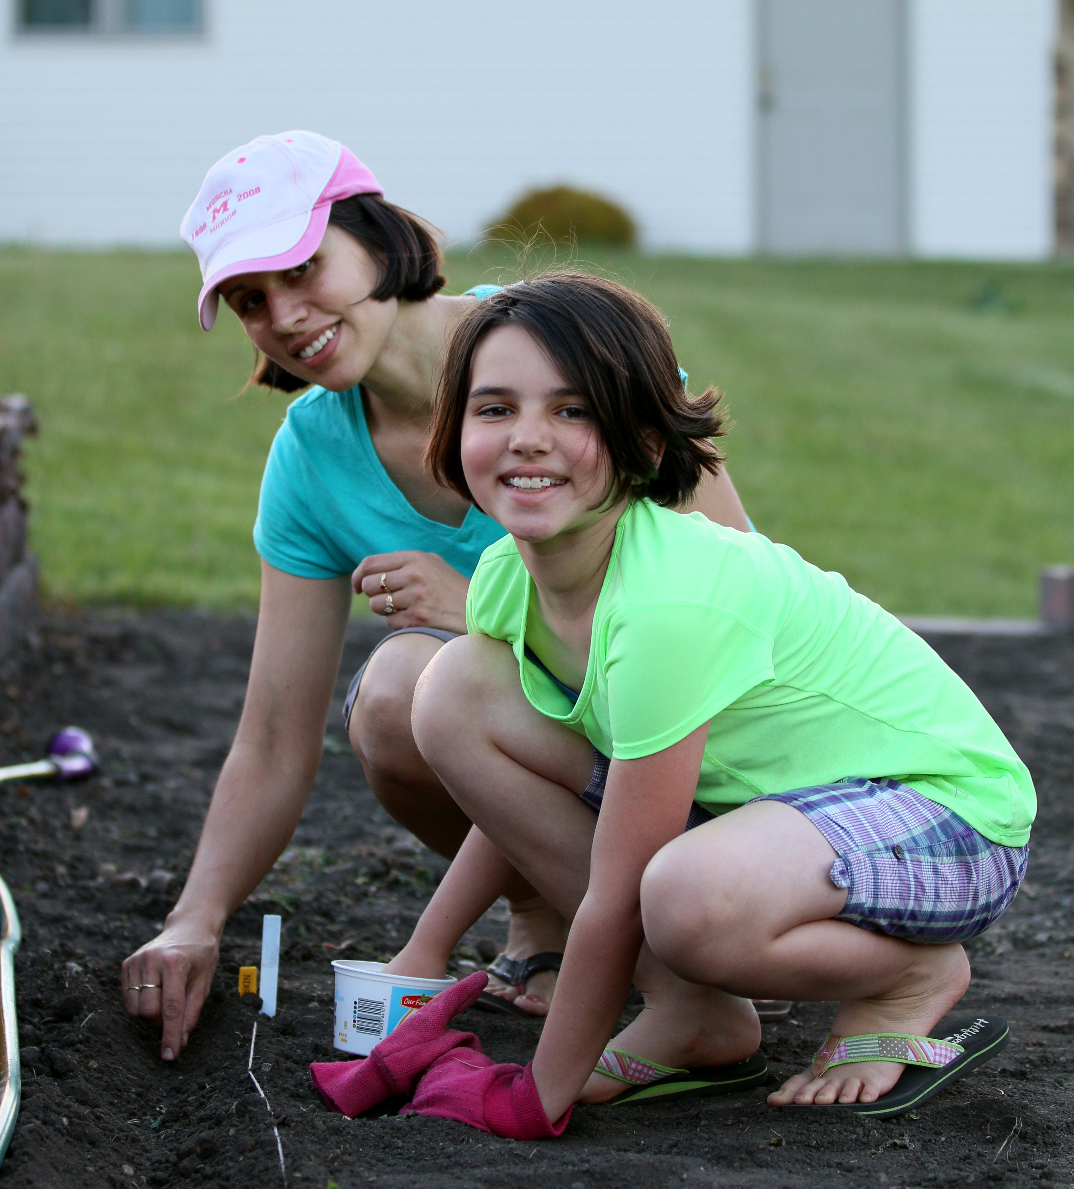
[[[425,461],[439,483],[466,499],[460,441],[473,354],[500,326],[532,335],[563,378],[584,397],[611,459],[605,498],[648,497],[665,508],[685,503],[702,472],[718,474],[714,438],[728,430],[722,395],[690,396],[660,313],[623,285],[580,272],[558,272],[501,289],[481,301],[456,331]],[[664,442],[657,464],[654,439]]]

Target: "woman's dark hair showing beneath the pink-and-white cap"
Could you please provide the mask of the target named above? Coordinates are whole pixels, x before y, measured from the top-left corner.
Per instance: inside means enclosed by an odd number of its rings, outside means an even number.
[[[328,222],[350,232],[377,262],[379,279],[371,297],[376,301],[425,301],[439,292],[447,278],[441,275],[444,256],[436,235],[423,219],[385,202],[376,194],[356,194],[332,203]],[[308,379],[263,356],[253,366],[251,384],[297,392]]]

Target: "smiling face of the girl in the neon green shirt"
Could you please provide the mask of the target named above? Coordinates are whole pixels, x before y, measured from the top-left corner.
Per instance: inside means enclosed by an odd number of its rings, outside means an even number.
[[[460,455],[475,501],[519,540],[577,531],[611,510],[610,460],[585,397],[517,326],[490,331],[473,353]]]

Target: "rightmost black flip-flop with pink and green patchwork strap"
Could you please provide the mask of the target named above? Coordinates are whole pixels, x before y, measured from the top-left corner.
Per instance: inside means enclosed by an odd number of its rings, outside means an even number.
[[[942,1037],[879,1032],[860,1037],[829,1037],[817,1050],[810,1072],[819,1077],[833,1065],[862,1061],[900,1061],[906,1065],[898,1082],[875,1102],[790,1103],[796,1111],[850,1111],[854,1114],[899,1115],[928,1102],[951,1082],[991,1061],[1006,1048],[1011,1033],[998,1015],[956,1020]]]

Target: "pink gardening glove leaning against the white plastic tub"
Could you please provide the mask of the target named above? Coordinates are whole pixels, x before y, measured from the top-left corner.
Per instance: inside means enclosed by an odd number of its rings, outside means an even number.
[[[321,1097],[333,1111],[353,1119],[384,1099],[409,1094],[417,1075],[438,1057],[460,1043],[478,1044],[472,1033],[453,1032],[447,1025],[477,1000],[488,981],[484,970],[478,970],[441,990],[408,1015],[365,1061],[315,1061],[309,1074]]]

